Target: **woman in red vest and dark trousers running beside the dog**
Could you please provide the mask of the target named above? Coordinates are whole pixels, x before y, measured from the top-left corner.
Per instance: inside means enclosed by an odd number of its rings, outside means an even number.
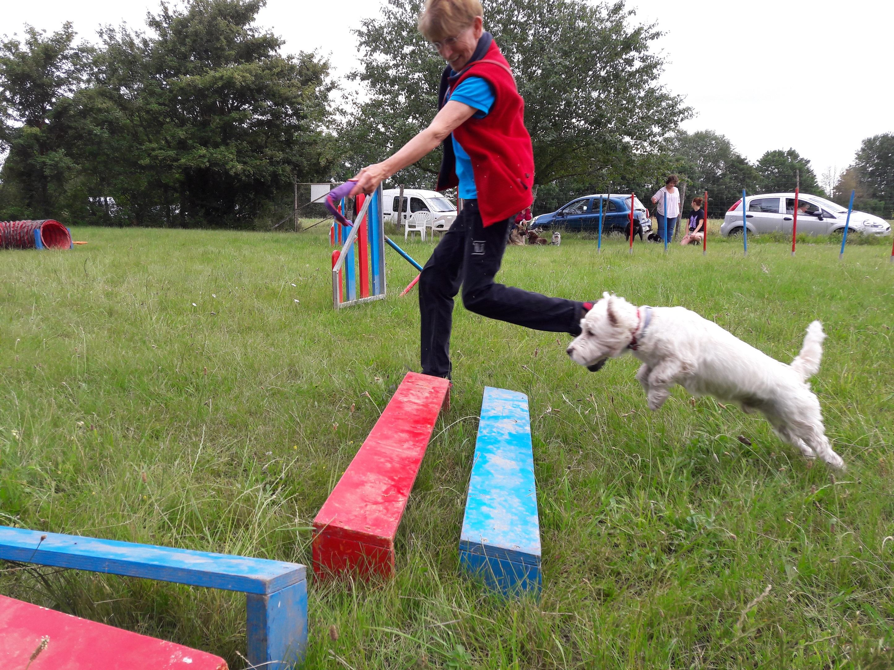
[[[443,143],[437,190],[459,187],[463,208],[419,278],[422,372],[450,377],[453,297],[477,314],[538,331],[580,333],[592,304],[494,283],[517,214],[534,202],[534,152],[525,101],[509,63],[483,27],[480,0],[427,0],[419,30],[448,66],[431,125],[382,163],[359,172],[351,195],[380,182]]]

